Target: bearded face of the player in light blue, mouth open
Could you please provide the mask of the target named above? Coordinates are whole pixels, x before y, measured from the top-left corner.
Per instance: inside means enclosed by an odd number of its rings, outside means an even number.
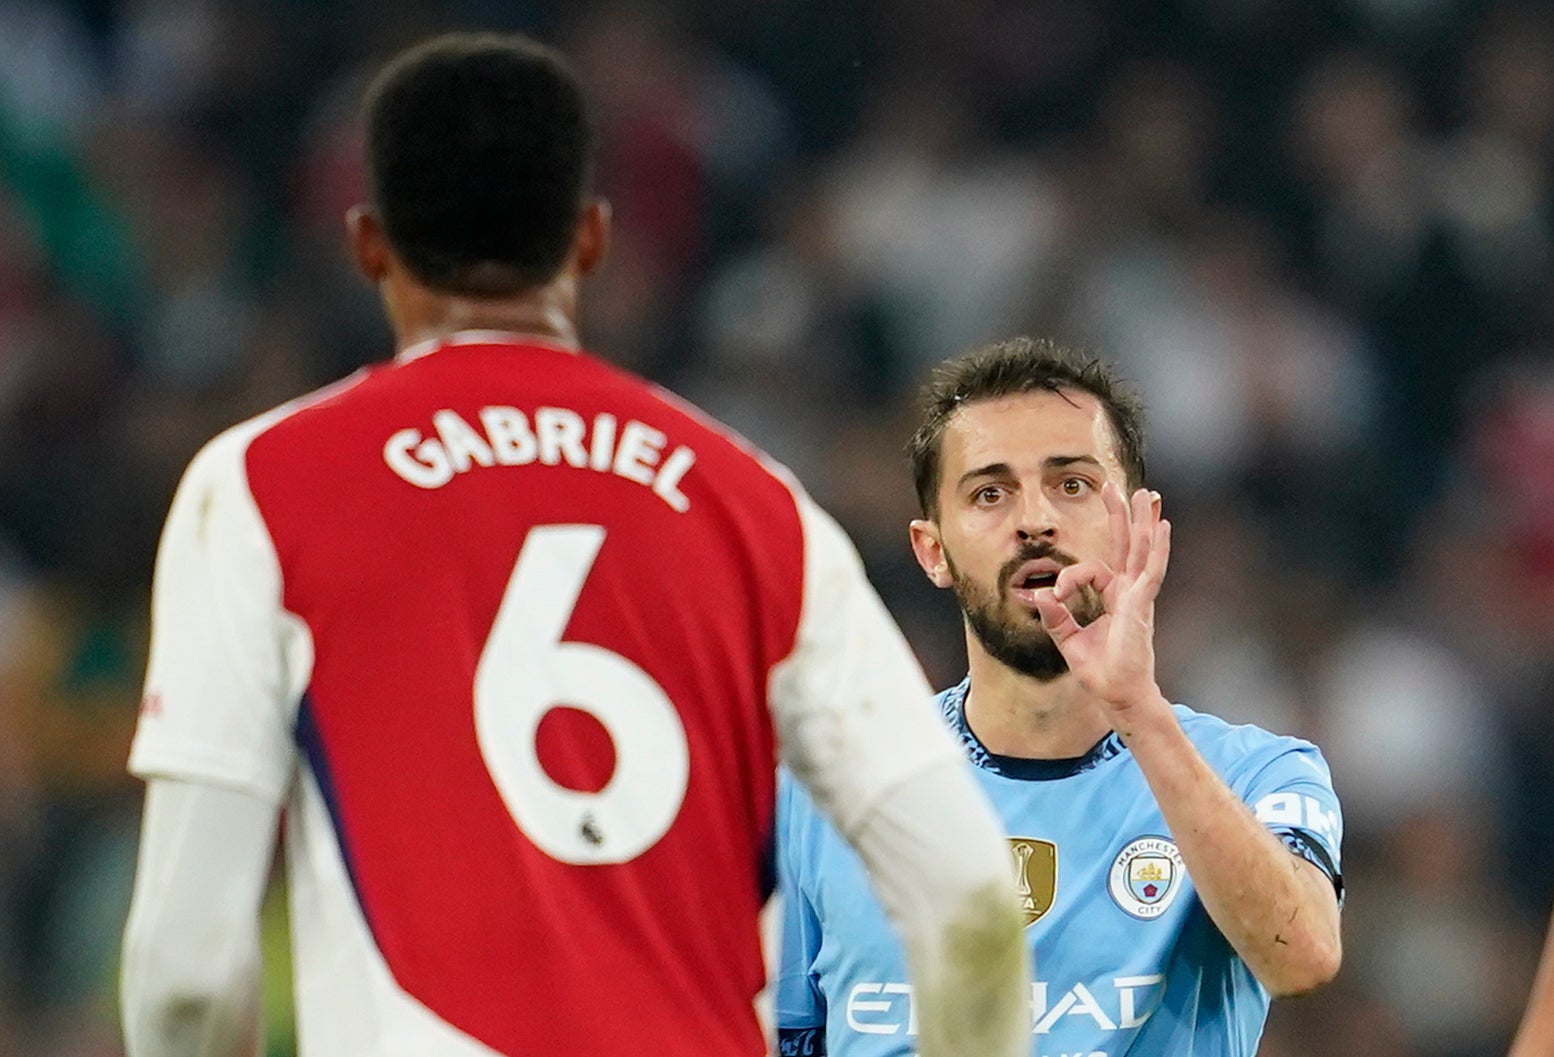
[[[1032,392],[959,409],[940,438],[939,516],[912,522],[912,552],[928,578],[953,588],[967,626],[996,661],[1038,679],[1068,672],[1041,626],[1035,592],[1063,566],[1116,567],[1100,487],[1127,493],[1106,412],[1089,393]],[[1102,614],[1085,588],[1069,608]]]

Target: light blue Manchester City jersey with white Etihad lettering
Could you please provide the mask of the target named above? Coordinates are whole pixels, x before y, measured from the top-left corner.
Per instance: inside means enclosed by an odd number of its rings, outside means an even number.
[[[990,754],[967,682],[939,696],[1010,838],[1037,967],[1033,1057],[1253,1057],[1268,992],[1209,920],[1114,734],[1077,760]],[[1316,746],[1175,706],[1211,766],[1340,888],[1341,819]],[[858,858],[802,788],[779,797],[782,1054],[915,1052],[912,990]]]

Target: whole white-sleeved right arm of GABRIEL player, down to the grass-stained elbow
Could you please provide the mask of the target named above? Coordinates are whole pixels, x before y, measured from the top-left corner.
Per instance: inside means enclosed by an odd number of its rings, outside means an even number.
[[[785,762],[875,878],[918,1052],[1024,1054],[1030,975],[1002,832],[858,553],[802,496],[800,516],[797,647],[771,693]]]

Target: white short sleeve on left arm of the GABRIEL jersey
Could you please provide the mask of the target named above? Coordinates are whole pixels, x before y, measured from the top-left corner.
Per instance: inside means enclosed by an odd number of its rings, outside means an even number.
[[[295,769],[292,724],[312,647],[281,608],[280,561],[244,471],[247,443],[264,424],[210,441],[172,499],[129,769],[280,804]]]

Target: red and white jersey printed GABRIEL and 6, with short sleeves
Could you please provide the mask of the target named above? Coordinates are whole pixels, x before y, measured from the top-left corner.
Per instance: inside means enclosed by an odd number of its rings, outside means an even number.
[[[284,805],[305,1057],[758,1054],[774,727],[845,755],[822,692],[880,656],[805,631],[838,612],[886,626],[780,468],[587,354],[463,334],[194,460],[131,769]],[[904,642],[883,667],[922,681]],[[862,811],[942,748],[819,788]]]

